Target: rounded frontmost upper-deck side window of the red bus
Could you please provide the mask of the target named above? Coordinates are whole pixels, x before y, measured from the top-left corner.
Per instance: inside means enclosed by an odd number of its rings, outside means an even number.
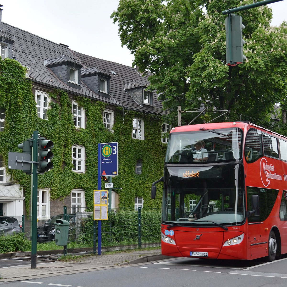
[[[244,146],[244,157],[247,163],[255,162],[263,156],[261,131],[249,129]]]

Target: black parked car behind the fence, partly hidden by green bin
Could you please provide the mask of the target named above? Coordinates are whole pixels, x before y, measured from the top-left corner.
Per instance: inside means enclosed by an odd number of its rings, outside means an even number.
[[[76,214],[68,214],[70,226],[75,219]],[[64,219],[63,214],[55,215],[46,221],[43,225],[37,228],[37,241],[46,242],[55,240],[55,221],[57,219]]]

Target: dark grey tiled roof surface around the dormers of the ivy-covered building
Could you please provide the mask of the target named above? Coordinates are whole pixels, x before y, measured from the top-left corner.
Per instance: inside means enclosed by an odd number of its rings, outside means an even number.
[[[141,106],[127,93],[127,90],[133,86],[135,88],[149,86],[147,77],[140,76],[135,68],[72,51],[66,45],[51,42],[3,22],[2,31],[14,41],[12,57],[22,65],[30,67],[29,77],[36,83],[145,114],[167,113],[162,110],[162,102],[158,101],[156,93],[153,93],[153,106]],[[69,60],[83,66],[82,74],[100,72],[110,76],[110,98],[96,94],[83,82],[80,90],[69,87],[45,66],[45,62],[51,64],[53,61],[62,60]]]

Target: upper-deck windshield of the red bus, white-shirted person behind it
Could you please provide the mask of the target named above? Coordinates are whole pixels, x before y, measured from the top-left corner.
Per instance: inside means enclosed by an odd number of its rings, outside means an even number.
[[[242,130],[204,129],[170,133],[166,163],[205,163],[240,160]]]

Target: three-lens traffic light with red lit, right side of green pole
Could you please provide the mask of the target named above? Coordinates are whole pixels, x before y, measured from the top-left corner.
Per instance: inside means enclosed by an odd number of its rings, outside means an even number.
[[[49,159],[53,158],[53,152],[49,151],[54,147],[53,141],[45,139],[44,137],[39,138],[39,166],[38,173],[44,173],[49,169],[53,168],[53,163],[49,162]]]

